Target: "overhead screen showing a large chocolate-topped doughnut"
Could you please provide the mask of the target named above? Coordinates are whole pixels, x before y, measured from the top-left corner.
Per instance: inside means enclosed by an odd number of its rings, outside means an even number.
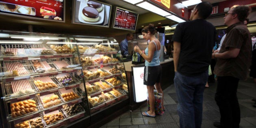
[[[95,0],[74,0],[72,22],[109,27],[111,5]]]

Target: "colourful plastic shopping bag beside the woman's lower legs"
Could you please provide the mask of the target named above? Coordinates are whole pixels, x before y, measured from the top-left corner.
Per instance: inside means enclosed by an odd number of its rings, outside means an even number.
[[[147,93],[148,94],[148,93]],[[163,101],[163,96],[162,93],[158,93],[154,89],[154,96],[155,96],[155,113],[158,115],[163,115],[163,107],[162,107],[162,101]],[[150,104],[149,104],[149,98],[147,99],[148,102],[148,111],[150,111]]]

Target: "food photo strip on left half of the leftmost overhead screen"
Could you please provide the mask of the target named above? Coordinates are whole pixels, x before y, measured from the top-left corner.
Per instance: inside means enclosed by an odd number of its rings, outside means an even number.
[[[24,15],[35,15],[35,8],[26,7],[18,4],[10,4],[5,2],[0,2],[0,11],[9,13],[18,13]]]

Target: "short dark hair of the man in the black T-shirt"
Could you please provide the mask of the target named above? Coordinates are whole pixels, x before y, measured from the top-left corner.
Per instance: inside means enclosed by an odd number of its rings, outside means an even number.
[[[201,2],[195,7],[198,11],[198,15],[202,19],[206,19],[213,11],[213,5],[209,2]]]

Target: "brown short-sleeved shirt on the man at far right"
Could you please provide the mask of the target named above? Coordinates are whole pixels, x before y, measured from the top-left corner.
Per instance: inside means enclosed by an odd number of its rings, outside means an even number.
[[[217,76],[233,76],[245,80],[251,64],[252,39],[244,24],[239,22],[227,28],[227,35],[219,53],[226,52],[229,48],[239,48],[238,56],[236,58],[217,59],[214,74]]]

